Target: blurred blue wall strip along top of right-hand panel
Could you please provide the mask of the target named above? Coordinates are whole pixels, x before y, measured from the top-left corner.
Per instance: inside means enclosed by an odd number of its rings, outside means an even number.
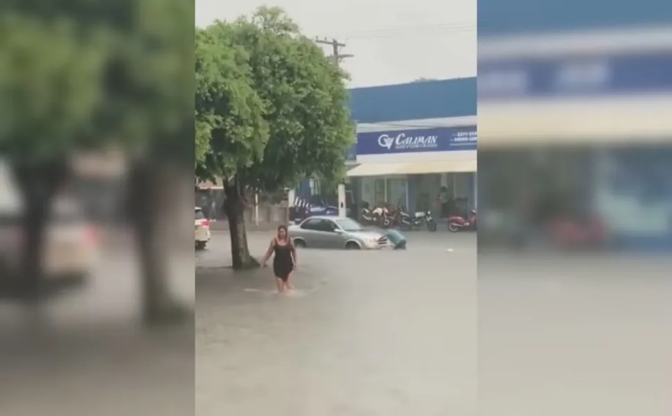
[[[479,0],[478,36],[522,35],[672,22],[672,1]],[[480,71],[479,71],[480,73]]]

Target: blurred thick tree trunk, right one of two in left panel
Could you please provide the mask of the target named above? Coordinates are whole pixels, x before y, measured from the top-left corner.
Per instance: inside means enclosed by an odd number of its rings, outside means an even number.
[[[145,162],[145,163],[143,163]],[[188,316],[168,284],[170,236],[163,233],[166,209],[170,207],[170,177],[163,166],[141,161],[130,174],[130,216],[139,249],[142,309],[146,324],[182,320]]]

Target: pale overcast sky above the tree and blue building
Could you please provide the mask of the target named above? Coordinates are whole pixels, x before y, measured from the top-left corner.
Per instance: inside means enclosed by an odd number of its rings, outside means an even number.
[[[476,75],[477,0],[196,0],[196,25],[283,8],[309,37],[336,38],[351,53],[349,87]],[[324,46],[331,53],[330,46]]]

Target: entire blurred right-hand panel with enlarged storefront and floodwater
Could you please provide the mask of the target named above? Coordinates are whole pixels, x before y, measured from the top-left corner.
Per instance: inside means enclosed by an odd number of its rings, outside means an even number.
[[[479,412],[672,414],[672,6],[479,0]]]

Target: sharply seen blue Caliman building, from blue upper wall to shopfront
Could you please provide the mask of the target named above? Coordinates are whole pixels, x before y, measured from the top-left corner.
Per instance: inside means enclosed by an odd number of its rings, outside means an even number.
[[[460,211],[475,207],[476,111],[476,78],[351,89],[349,199],[439,215],[444,189]]]

